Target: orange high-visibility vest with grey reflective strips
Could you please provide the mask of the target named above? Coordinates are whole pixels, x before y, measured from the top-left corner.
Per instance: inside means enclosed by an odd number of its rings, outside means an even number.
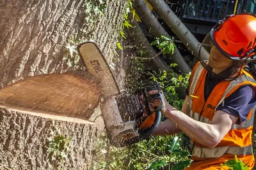
[[[243,70],[236,80],[218,83],[207,101],[205,101],[204,87],[206,75],[206,69],[198,62],[191,74],[188,93],[190,117],[207,124],[212,124],[212,117],[217,106],[224,104],[224,100],[239,87],[242,85],[253,85],[256,87],[252,76]],[[234,155],[237,155],[239,160],[243,160],[249,169],[252,169],[255,162],[252,148],[254,110],[255,108],[248,113],[248,117],[242,124],[234,124],[232,129],[228,131],[226,136],[214,148],[208,148],[198,142],[194,142],[191,145],[191,148],[193,148],[191,159],[194,162],[187,169],[225,169],[224,167],[219,167],[220,164],[224,164],[227,160],[235,159]]]

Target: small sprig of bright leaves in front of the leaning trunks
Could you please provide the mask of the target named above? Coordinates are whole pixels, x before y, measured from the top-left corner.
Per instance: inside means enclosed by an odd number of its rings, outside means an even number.
[[[175,45],[173,43],[173,38],[167,38],[166,36],[161,36],[161,38],[156,38],[151,45],[156,45],[157,48],[162,50],[163,54],[172,53],[175,50]]]

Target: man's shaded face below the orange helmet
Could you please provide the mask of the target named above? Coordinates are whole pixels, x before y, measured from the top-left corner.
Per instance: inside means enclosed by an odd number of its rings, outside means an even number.
[[[228,59],[223,55],[216,46],[212,46],[210,57],[209,57],[209,66],[212,67],[212,71],[215,74],[220,73],[221,71],[232,66],[233,60]]]

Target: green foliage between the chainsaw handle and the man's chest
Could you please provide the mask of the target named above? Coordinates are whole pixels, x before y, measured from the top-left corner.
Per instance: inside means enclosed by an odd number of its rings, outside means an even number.
[[[157,81],[161,86],[168,103],[180,110],[184,100],[179,98],[176,91],[179,90],[181,86],[185,88],[188,87],[190,73],[181,74],[179,77],[176,77],[172,70],[175,66],[177,66],[177,64],[170,65],[171,71],[169,74],[166,73],[166,71],[159,71],[158,73],[154,71],[150,80]]]

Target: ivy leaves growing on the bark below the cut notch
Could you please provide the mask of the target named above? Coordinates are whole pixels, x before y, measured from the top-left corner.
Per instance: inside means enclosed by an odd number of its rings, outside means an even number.
[[[48,159],[52,162],[54,169],[63,169],[63,163],[65,162],[65,159],[67,159],[67,152],[69,150],[71,138],[58,134],[54,129],[55,127],[53,123],[53,129],[51,129],[50,133],[51,136],[47,138]]]

